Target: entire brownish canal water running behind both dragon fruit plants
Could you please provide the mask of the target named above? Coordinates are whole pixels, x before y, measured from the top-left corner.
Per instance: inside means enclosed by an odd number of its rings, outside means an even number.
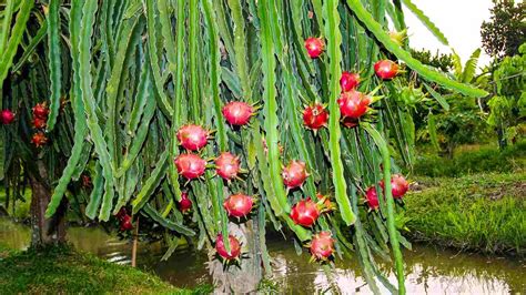
[[[131,243],[118,240],[100,228],[69,228],[69,241],[79,250],[91,252],[108,261],[129,264]],[[0,220],[0,244],[23,250],[29,245],[27,226]],[[331,284],[343,294],[370,294],[356,261],[338,261],[331,274],[317,264],[310,264],[306,254],[297,256],[292,243],[270,241],[274,258],[272,281],[281,292],[312,294],[330,291]],[[168,261],[160,262],[163,250],[159,244],[141,244],[138,265],[153,271],[180,287],[210,283],[203,253],[181,250]],[[408,294],[516,294],[526,293],[526,262],[518,258],[456,253],[417,245],[404,253]],[[388,272],[388,265],[381,265]],[[390,281],[395,282],[390,274]]]

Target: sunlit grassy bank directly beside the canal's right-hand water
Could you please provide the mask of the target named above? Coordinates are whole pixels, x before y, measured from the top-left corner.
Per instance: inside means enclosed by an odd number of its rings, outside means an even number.
[[[414,240],[526,254],[526,172],[418,177],[405,197]]]

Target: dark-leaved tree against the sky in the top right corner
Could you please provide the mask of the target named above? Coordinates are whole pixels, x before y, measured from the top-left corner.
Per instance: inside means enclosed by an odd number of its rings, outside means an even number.
[[[493,3],[490,20],[481,27],[484,50],[497,59],[518,54],[526,39],[526,3],[515,0],[494,0]]]

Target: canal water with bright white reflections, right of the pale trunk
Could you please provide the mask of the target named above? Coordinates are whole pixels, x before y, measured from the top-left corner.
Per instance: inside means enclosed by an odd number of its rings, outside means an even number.
[[[287,292],[302,289],[322,292],[330,287],[330,276],[316,264],[308,264],[305,257],[295,255],[293,248],[280,248],[281,244],[270,246],[279,261],[274,278]],[[524,261],[487,257],[477,254],[457,254],[431,246],[416,246],[404,253],[407,294],[516,294],[526,292]],[[381,268],[388,269],[388,264]],[[371,294],[368,287],[362,287],[356,261],[338,261],[331,276],[343,294]],[[396,277],[388,275],[394,284]],[[381,284],[378,284],[381,286]],[[384,289],[387,293],[386,289]]]

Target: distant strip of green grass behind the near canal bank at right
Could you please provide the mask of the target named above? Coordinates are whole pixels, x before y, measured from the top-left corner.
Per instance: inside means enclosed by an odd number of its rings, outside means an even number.
[[[423,153],[417,156],[414,174],[456,177],[481,172],[516,172],[526,166],[526,140],[499,151],[493,145],[466,145],[453,159]]]

